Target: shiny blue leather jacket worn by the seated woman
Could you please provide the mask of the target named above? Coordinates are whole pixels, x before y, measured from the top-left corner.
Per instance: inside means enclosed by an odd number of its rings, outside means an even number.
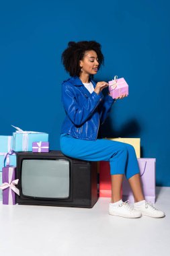
[[[91,79],[95,88],[96,83]],[[62,103],[66,117],[60,133],[67,133],[78,139],[95,141],[102,124],[114,103],[111,96],[90,92],[79,77],[71,77],[62,83]]]

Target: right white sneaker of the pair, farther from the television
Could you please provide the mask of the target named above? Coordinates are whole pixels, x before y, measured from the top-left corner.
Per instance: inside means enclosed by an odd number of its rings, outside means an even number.
[[[134,203],[134,210],[140,211],[144,216],[153,218],[163,218],[165,216],[164,212],[157,210],[152,203],[146,201],[139,206]]]

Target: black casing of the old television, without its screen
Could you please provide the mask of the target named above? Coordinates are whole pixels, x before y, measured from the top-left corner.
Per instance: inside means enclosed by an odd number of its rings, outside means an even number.
[[[89,162],[69,158],[60,151],[48,153],[16,152],[16,179],[20,195],[17,203],[21,205],[52,205],[69,207],[93,207],[97,195],[97,162]],[[22,162],[23,160],[68,160],[69,161],[69,197],[46,198],[30,197],[22,193]]]

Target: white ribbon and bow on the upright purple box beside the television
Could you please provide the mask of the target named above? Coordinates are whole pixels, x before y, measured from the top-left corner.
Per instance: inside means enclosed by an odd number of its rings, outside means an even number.
[[[9,179],[8,179],[9,183],[5,182],[0,186],[0,189],[2,190],[7,189],[9,187],[9,198],[8,198],[9,204],[13,204],[12,191],[15,192],[17,195],[19,195],[19,189],[15,187],[19,179],[12,181],[12,175],[13,175],[13,167],[9,167]]]

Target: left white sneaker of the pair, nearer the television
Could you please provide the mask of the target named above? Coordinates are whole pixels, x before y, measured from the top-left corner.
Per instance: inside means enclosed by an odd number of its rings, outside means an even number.
[[[141,212],[134,210],[128,201],[120,203],[120,205],[112,205],[110,203],[109,214],[114,216],[120,216],[124,218],[140,218],[142,216]]]

